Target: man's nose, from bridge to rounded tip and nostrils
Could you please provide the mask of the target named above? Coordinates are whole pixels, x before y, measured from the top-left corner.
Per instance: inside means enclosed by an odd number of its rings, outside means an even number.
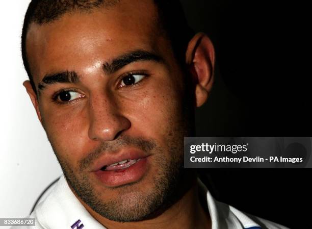
[[[99,141],[113,141],[131,122],[123,116],[114,98],[97,95],[89,102],[89,138]]]

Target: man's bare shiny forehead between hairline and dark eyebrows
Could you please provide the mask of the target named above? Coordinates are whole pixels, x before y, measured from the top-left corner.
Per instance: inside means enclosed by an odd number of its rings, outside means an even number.
[[[26,49],[34,80],[53,71],[83,70],[128,50],[161,52],[160,44],[166,39],[157,18],[152,0],[138,0],[31,24]]]

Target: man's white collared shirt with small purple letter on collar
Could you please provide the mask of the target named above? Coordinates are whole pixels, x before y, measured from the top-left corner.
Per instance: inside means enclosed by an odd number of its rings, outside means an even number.
[[[200,180],[198,183],[200,193],[205,194],[212,229],[289,229],[215,200]],[[15,226],[11,229],[106,229],[75,197],[64,175],[29,218],[36,219],[36,226]]]

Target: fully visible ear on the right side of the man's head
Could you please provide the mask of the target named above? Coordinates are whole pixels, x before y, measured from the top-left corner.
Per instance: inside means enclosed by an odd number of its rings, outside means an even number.
[[[196,106],[200,107],[207,100],[214,82],[215,49],[207,35],[198,33],[192,38],[186,62],[196,84]]]

